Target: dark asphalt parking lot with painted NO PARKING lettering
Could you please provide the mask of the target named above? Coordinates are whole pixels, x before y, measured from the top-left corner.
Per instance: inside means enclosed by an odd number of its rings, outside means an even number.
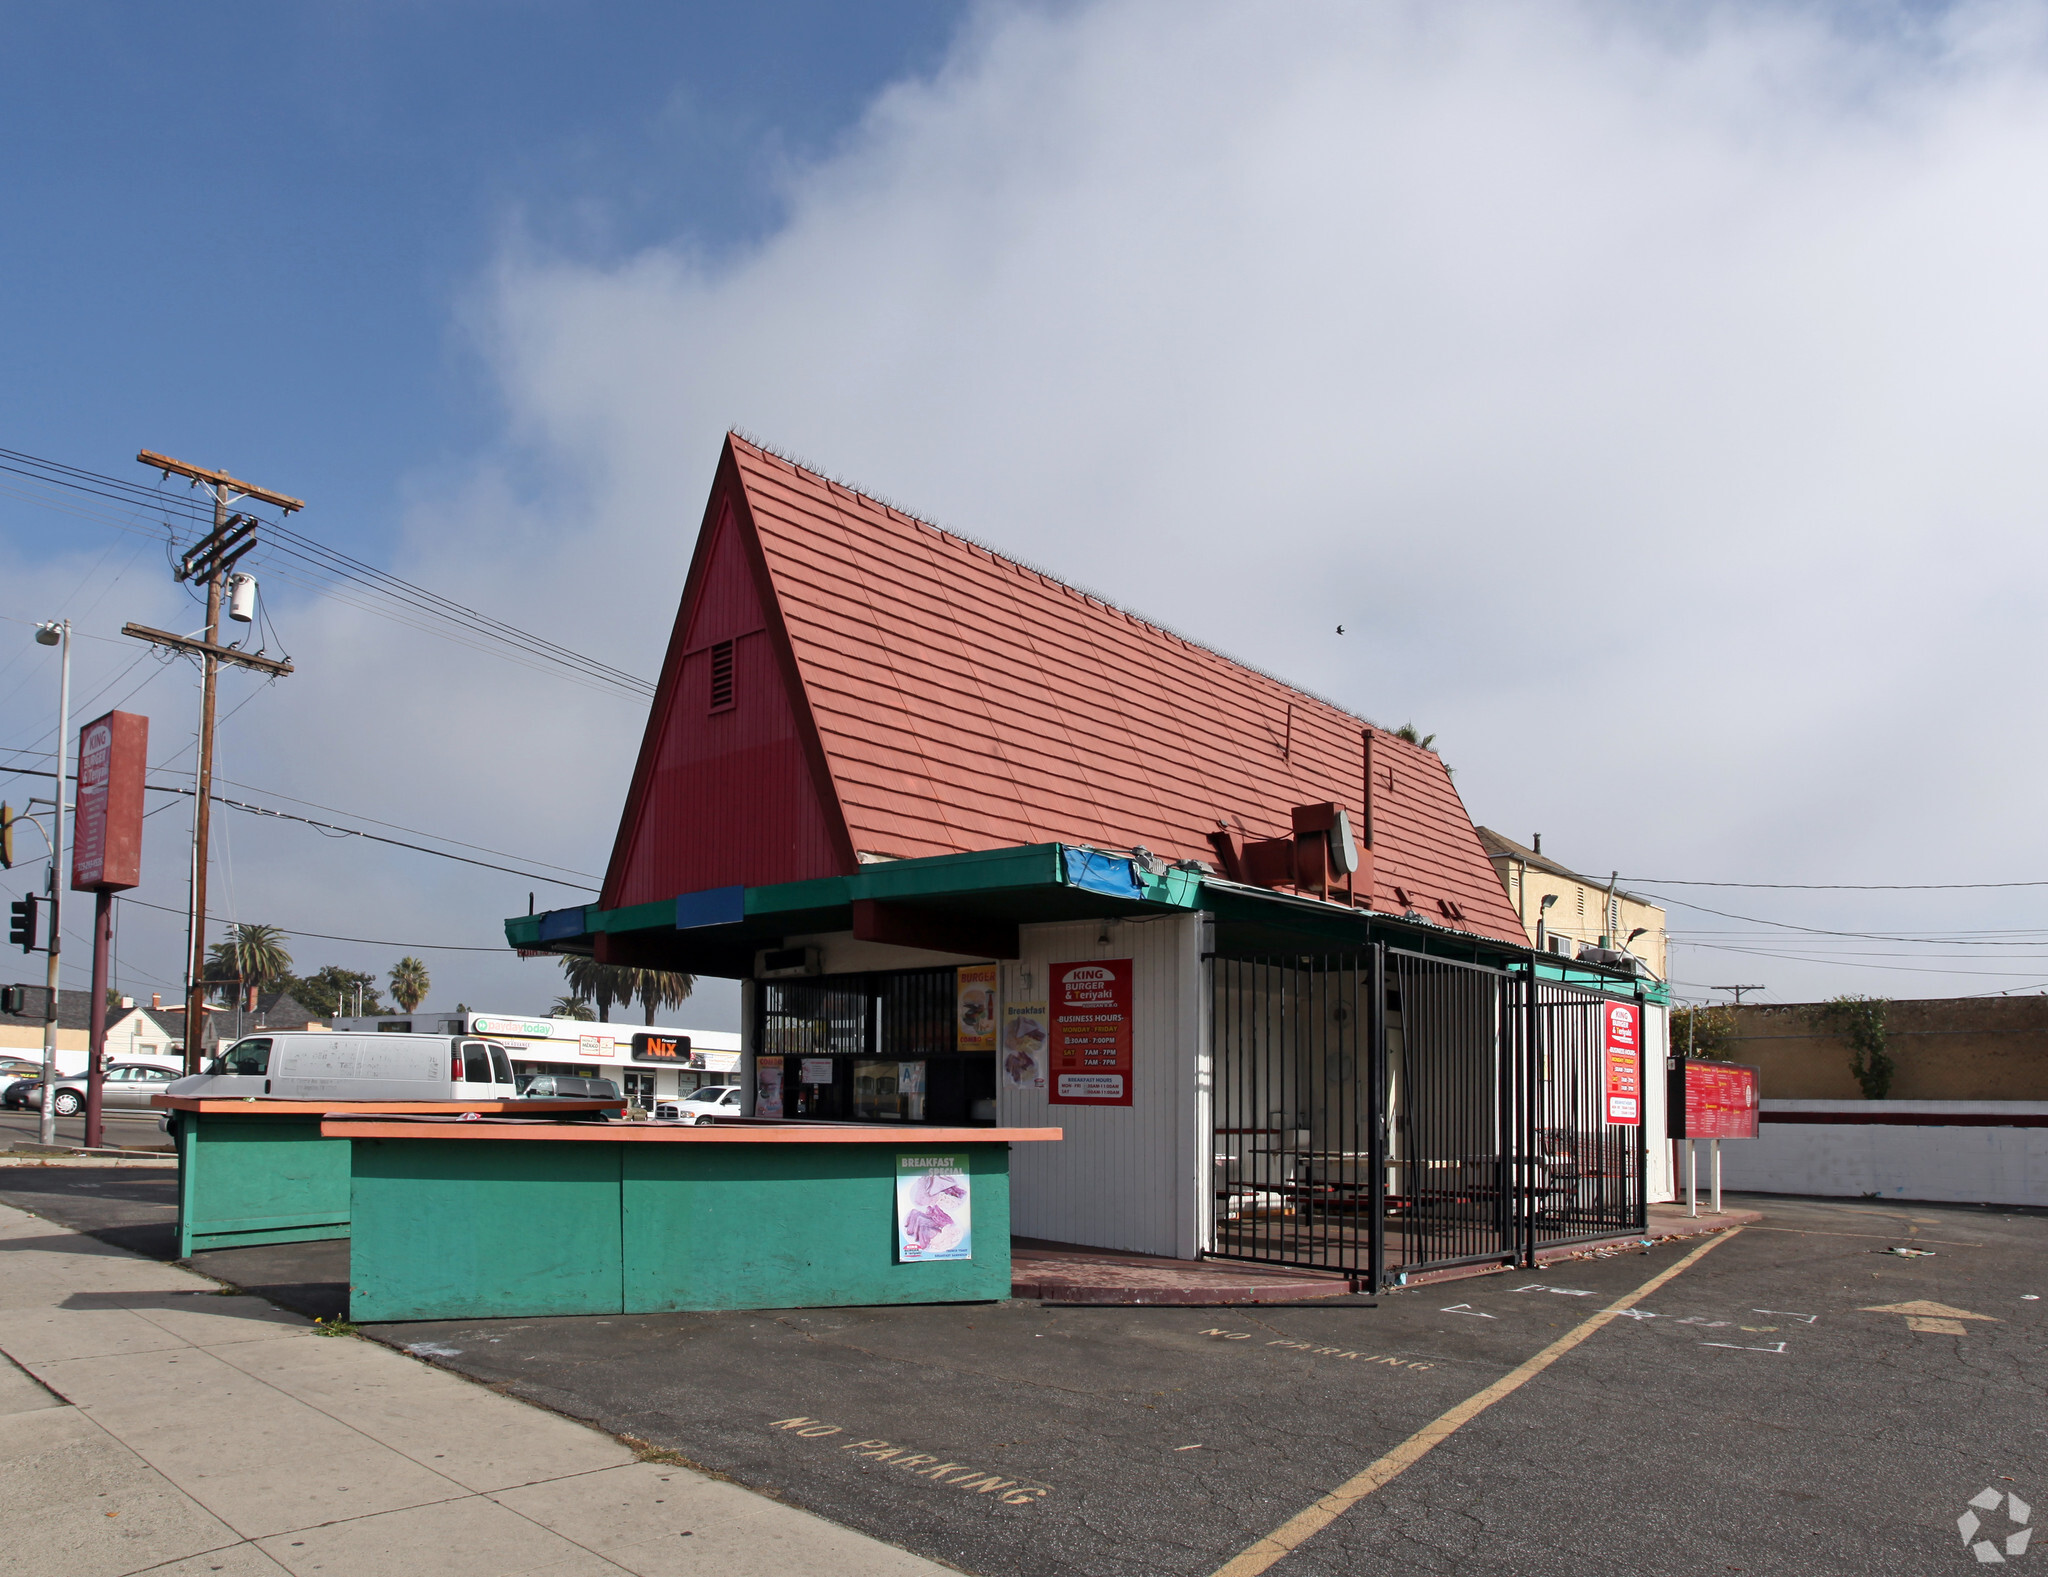
[[[168,1171],[16,1169],[0,1198],[143,1251],[154,1233],[168,1253],[170,1186]],[[1710,1239],[1272,1569],[1976,1569],[1958,1536],[1972,1497],[2048,1505],[2048,1212],[1741,1204],[1763,1223]],[[1208,1577],[1696,1247],[1376,1307],[997,1303],[369,1333],[965,1571]],[[197,1264],[332,1313],[346,1249]],[[1888,1311],[1923,1303],[1946,1313]],[[2003,1548],[2013,1516],[1980,1509],[1976,1536]]]

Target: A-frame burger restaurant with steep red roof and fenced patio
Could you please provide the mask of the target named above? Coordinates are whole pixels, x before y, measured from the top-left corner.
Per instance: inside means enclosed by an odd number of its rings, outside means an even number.
[[[1669,1196],[1663,987],[1530,950],[1432,752],[737,436],[600,901],[506,936],[745,981],[760,1116],[1065,1128],[1024,1237],[1376,1284]]]

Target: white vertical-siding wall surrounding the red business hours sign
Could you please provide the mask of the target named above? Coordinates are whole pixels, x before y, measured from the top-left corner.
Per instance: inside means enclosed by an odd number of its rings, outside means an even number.
[[[1130,958],[1130,1106],[1055,1106],[1047,1090],[1012,1090],[997,1075],[997,1120],[1065,1128],[1057,1145],[1010,1153],[1010,1229],[1020,1237],[1192,1260],[1208,1229],[1208,1014],[1202,922],[1165,915],[1026,926],[1022,958],[1004,967],[1004,995],[1042,999],[1049,967]],[[1026,983],[1028,981],[1028,983]],[[1049,1077],[1051,1083],[1051,1077]]]

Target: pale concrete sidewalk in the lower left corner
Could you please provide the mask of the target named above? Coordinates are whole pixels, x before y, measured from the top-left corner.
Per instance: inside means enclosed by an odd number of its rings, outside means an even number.
[[[0,1206],[0,1573],[942,1567]]]

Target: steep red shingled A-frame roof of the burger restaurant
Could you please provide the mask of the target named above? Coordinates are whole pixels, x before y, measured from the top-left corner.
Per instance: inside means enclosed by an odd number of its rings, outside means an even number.
[[[737,553],[735,549],[743,549]],[[604,903],[641,903],[723,877],[655,852],[702,825],[707,780],[664,793],[668,764],[700,758],[717,721],[686,657],[743,614],[717,582],[752,563],[762,614],[793,678],[793,727],[819,780],[834,856],[911,858],[1067,842],[1214,860],[1208,834],[1284,838],[1294,805],[1364,803],[1362,719],[1184,641],[864,494],[729,438],[690,588],[664,666]],[[696,604],[696,606],[692,606]],[[784,645],[786,641],[786,645]],[[688,735],[688,745],[678,745]],[[784,745],[793,760],[795,739]],[[1444,764],[1374,731],[1374,905],[1516,944],[1524,932]],[[844,838],[844,842],[842,842]],[[813,844],[817,840],[811,840]],[[825,870],[770,872],[786,881]],[[674,885],[688,879],[690,885]],[[752,883],[750,883],[752,885]],[[1456,907],[1460,918],[1444,909]]]

